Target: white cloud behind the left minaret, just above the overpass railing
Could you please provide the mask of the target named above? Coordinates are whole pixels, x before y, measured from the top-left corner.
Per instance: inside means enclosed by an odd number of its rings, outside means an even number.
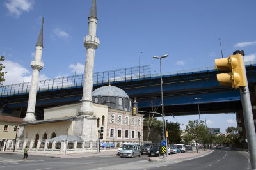
[[[28,70],[19,63],[10,60],[3,61],[3,65],[5,66],[4,71],[7,72],[6,75],[4,75],[5,81],[3,82],[3,85],[18,84],[23,81],[31,82],[32,70]],[[39,81],[45,79],[49,79],[45,74],[39,75]]]

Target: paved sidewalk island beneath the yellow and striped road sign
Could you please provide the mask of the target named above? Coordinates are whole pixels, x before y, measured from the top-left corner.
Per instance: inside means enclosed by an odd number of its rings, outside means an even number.
[[[179,162],[180,160],[190,160],[193,158],[204,157],[205,155],[212,153],[212,151],[214,150],[205,150],[205,151],[198,150],[198,153],[189,151],[186,153],[171,154],[167,156],[166,160],[163,159],[163,156],[150,157],[149,161],[150,162]]]

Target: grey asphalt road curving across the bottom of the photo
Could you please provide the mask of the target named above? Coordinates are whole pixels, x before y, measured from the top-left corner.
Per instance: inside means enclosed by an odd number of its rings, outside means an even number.
[[[186,153],[180,153],[186,154]],[[148,156],[120,158],[116,155],[84,158],[51,158],[0,153],[0,169],[248,169],[249,154],[228,149],[215,150],[205,157],[181,162],[148,162]]]

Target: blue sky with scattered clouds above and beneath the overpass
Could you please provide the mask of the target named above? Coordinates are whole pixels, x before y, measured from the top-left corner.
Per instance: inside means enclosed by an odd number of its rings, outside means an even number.
[[[4,84],[31,81],[30,62],[44,17],[44,68],[40,79],[84,72],[92,0],[0,2],[0,54],[6,57],[8,74]],[[170,1],[97,0],[99,48],[95,52],[94,72],[151,65],[159,73],[214,66],[214,59],[244,50],[246,61],[256,59],[256,1]],[[221,120],[216,118],[221,115]],[[234,114],[209,115],[214,128],[235,125]],[[191,117],[193,118],[193,116]],[[181,123],[184,116],[177,117]],[[229,121],[228,121],[229,120]],[[228,123],[233,122],[233,123]],[[210,124],[209,124],[210,125]],[[225,127],[224,127],[225,126]]]

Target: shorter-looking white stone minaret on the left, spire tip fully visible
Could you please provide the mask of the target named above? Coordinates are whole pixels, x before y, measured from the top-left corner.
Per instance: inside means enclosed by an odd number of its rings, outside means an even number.
[[[44,18],[42,19],[41,30],[36,43],[35,60],[31,61],[31,64],[30,64],[33,70],[33,73],[32,73],[31,88],[29,91],[29,98],[28,98],[28,109],[27,109],[26,116],[23,119],[25,123],[35,121],[35,106],[36,106],[38,77],[39,77],[39,71],[44,67],[44,63],[42,63],[41,61],[42,50],[43,50],[43,24],[44,24]]]

